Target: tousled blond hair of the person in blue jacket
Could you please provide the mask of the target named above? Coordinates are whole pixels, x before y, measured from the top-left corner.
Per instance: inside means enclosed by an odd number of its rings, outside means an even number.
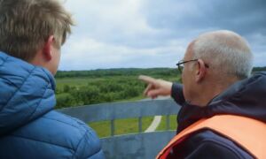
[[[30,61],[54,35],[60,48],[74,25],[58,0],[0,0],[0,50]]]

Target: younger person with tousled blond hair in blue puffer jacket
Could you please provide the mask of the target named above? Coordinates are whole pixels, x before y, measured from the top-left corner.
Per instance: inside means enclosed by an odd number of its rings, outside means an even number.
[[[0,158],[104,158],[90,127],[53,110],[72,25],[57,0],[0,0]]]

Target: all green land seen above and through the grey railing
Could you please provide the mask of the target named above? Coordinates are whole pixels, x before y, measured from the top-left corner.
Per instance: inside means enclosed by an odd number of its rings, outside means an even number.
[[[144,99],[145,83],[137,79],[141,74],[153,78],[180,81],[176,69],[111,69],[82,72],[58,72],[56,76],[56,109],[104,102],[130,102]],[[157,131],[166,130],[166,117],[162,117]],[[153,121],[143,117],[142,130]],[[176,130],[176,116],[170,117],[170,129]],[[138,132],[138,119],[115,120],[115,135]],[[111,135],[110,121],[89,124],[99,137]]]

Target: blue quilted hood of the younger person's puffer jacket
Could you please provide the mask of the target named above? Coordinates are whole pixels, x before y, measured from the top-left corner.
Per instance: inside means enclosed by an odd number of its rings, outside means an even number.
[[[49,71],[0,52],[0,136],[52,110],[54,90]]]

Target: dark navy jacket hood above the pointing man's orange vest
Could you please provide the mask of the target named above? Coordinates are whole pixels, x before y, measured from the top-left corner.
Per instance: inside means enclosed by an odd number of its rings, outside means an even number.
[[[256,72],[248,79],[239,80],[217,95],[207,107],[184,103],[179,111],[178,130],[200,118],[213,117],[217,114],[231,114],[252,117],[266,123],[266,72]]]

